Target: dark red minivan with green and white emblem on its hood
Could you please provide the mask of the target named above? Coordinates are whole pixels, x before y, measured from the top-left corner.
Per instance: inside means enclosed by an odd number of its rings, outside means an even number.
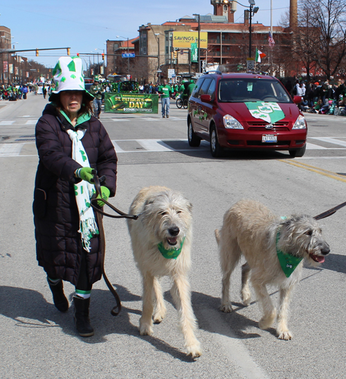
[[[210,141],[213,157],[224,149],[289,150],[302,157],[307,122],[280,80],[257,73],[212,71],[197,80],[188,103],[188,141]]]

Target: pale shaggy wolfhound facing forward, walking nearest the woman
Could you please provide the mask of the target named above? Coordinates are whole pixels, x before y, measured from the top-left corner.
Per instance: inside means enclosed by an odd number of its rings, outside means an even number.
[[[194,335],[197,320],[191,306],[188,271],[191,265],[192,205],[169,188],[143,188],[134,198],[129,212],[140,214],[138,220],[127,220],[134,259],[143,276],[143,312],[140,334],[152,335],[153,319],[157,324],[165,317],[166,307],[158,279],[170,276],[172,298],[188,355],[201,355]],[[153,301],[154,299],[154,301]],[[155,310],[154,310],[155,303]]]

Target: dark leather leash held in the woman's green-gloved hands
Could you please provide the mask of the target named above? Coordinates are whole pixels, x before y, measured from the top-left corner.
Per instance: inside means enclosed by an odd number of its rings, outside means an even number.
[[[90,204],[91,204],[93,210],[95,211],[96,219],[98,220],[98,231],[100,233],[99,234],[99,236],[100,236],[100,238],[99,238],[100,242],[99,243],[100,243],[100,251],[102,254],[102,263],[101,263],[102,276],[103,276],[104,281],[107,284],[107,287],[109,288],[109,290],[113,294],[114,299],[116,299],[116,306],[113,307],[113,309],[111,310],[111,315],[118,316],[120,313],[120,310],[121,310],[120,297],[119,297],[118,293],[116,292],[116,289],[113,287],[113,285],[111,285],[111,282],[107,278],[106,272],[104,271],[104,258],[106,256],[106,238],[104,236],[102,215],[105,215],[105,216],[111,217],[111,218],[129,218],[132,220],[137,220],[139,215],[128,215],[127,213],[124,213],[124,212],[120,211],[119,209],[117,209],[112,204],[109,204],[109,202],[107,202],[106,200],[102,199],[100,179],[97,175],[96,170],[93,170],[92,174],[93,174],[93,181],[95,184],[96,197],[98,195],[100,195],[100,197],[98,199],[92,198]],[[104,211],[101,211],[100,207],[97,204],[98,201],[102,201],[102,202],[104,202],[104,204],[107,204],[107,206],[109,206],[111,209],[113,209],[113,211],[118,213],[118,215],[111,215],[111,214],[105,213]],[[93,204],[93,202],[95,202],[95,204]]]

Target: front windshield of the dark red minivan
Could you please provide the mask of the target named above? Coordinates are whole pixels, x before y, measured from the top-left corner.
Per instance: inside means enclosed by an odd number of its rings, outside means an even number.
[[[262,78],[221,79],[218,97],[223,103],[243,103],[244,101],[293,103],[281,82]]]

